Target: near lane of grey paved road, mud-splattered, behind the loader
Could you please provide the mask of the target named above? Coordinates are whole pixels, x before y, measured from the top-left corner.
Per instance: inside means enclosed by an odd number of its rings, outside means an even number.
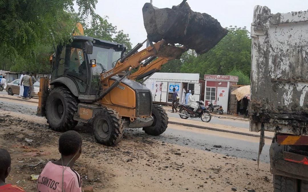
[[[28,114],[35,116],[37,105],[23,101],[5,100],[0,98],[0,109],[17,113],[27,112]],[[170,114],[178,116],[178,114]],[[221,122],[220,119],[217,119],[217,121]],[[226,121],[223,120],[223,122]],[[127,131],[135,131],[136,134],[143,134],[142,129],[129,129]],[[257,151],[259,147],[259,139],[256,137],[209,130],[198,130],[194,127],[187,127],[187,129],[182,127],[182,129],[179,129],[178,125],[173,124],[169,124],[168,129],[164,134],[153,138],[166,143],[174,143],[195,149],[254,160],[257,159]],[[266,139],[263,154],[261,154],[260,158],[261,161],[266,163],[269,163],[268,153],[270,142],[269,139]]]

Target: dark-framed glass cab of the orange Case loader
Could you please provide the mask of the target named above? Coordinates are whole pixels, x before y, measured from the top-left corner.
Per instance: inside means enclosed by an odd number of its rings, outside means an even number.
[[[123,44],[74,36],[70,45],[57,46],[51,85],[64,84],[79,100],[92,102],[99,94],[100,73],[113,68],[125,50]]]

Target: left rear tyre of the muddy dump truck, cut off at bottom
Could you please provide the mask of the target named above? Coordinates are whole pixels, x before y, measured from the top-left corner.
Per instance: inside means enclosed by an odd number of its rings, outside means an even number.
[[[274,175],[274,192],[304,192],[298,191],[298,180],[290,177]]]

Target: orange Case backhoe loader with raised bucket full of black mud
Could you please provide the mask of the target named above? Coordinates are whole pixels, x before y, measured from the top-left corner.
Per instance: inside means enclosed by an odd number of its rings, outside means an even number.
[[[176,15],[169,21],[168,15],[175,10]],[[83,36],[81,24],[71,44],[56,47],[50,58],[50,83],[47,78],[40,80],[37,111],[38,116],[46,117],[52,130],[71,130],[78,122],[91,124],[95,139],[105,145],[117,144],[124,127],[143,128],[149,135],[160,135],[166,130],[166,112],[152,104],[150,90],[136,80],[148,78],[172,59],[180,59],[188,49],[205,53],[228,31],[209,15],[199,18],[207,22],[196,22],[194,15],[198,13],[192,12],[185,2],[172,9],[157,9],[146,3],[142,11],[150,46],[139,52],[145,41],[125,55],[123,44]],[[189,37],[185,44],[185,34],[192,34],[189,30],[195,27],[200,28],[198,39]],[[168,35],[172,31],[178,37]]]

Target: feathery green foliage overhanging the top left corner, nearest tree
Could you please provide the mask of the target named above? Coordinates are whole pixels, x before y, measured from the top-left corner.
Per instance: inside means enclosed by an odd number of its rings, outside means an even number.
[[[31,54],[37,44],[56,44],[70,40],[75,17],[67,11],[78,6],[81,18],[95,24],[97,0],[0,0],[0,55],[12,60]]]

